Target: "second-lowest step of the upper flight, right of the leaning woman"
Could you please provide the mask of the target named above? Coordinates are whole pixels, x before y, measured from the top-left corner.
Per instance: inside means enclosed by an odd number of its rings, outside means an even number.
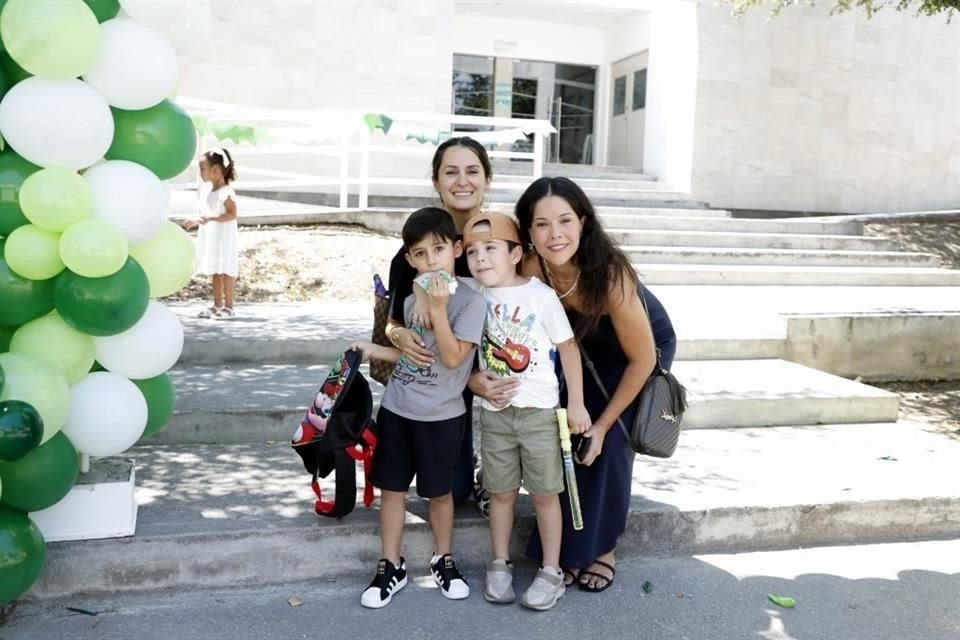
[[[920,267],[940,266],[932,253],[906,251],[837,251],[741,247],[621,246],[631,260],[648,264],[783,265],[797,267]]]

